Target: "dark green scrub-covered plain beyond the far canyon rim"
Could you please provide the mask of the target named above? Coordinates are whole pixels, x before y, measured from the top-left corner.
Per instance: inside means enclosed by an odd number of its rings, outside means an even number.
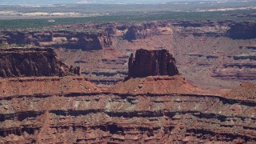
[[[106,15],[80,18],[54,18],[55,22],[48,22],[48,18],[40,19],[10,19],[0,20],[0,29],[44,29],[58,25],[72,25],[77,23],[100,23],[100,22],[143,22],[158,20],[234,20],[238,22],[256,22],[254,17],[237,17],[234,14],[254,14],[256,10],[230,10],[212,12],[174,12],[154,11],[148,13],[123,12],[120,15]]]

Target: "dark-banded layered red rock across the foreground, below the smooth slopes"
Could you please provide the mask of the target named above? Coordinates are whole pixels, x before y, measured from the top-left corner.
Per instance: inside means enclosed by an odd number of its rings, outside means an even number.
[[[0,142],[254,143],[255,103],[190,94],[1,99]]]

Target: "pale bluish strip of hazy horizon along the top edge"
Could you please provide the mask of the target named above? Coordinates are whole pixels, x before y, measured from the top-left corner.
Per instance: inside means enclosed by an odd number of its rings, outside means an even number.
[[[56,5],[56,4],[158,4],[164,2],[197,2],[197,1],[220,1],[230,0],[0,0],[0,6],[22,5]]]

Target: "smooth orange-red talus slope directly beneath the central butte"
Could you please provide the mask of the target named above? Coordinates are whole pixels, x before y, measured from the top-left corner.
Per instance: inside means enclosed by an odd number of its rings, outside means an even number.
[[[198,86],[187,82],[182,75],[149,76],[146,78],[130,78],[111,86],[110,91],[123,94],[207,94]]]

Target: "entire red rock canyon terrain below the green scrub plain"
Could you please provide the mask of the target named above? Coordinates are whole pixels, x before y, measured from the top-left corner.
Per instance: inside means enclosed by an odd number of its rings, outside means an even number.
[[[255,143],[255,28],[1,30],[0,143]]]

